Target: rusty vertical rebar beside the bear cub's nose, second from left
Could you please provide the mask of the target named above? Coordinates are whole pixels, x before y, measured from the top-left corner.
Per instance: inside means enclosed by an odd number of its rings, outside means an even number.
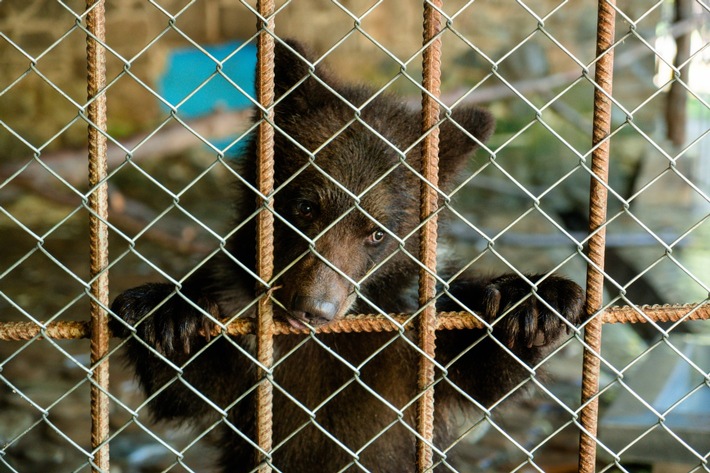
[[[257,136],[257,187],[260,192],[261,211],[257,215],[256,270],[262,281],[269,283],[273,276],[274,266],[274,129],[271,126],[274,118],[274,2],[273,0],[257,1],[260,15],[257,28],[258,65],[256,73],[257,100],[262,109],[261,122]],[[264,290],[257,309],[257,358],[259,360],[259,386],[256,391],[257,403],[257,462],[259,471],[271,471],[272,448],[272,404],[273,386],[271,384],[271,366],[273,363],[273,307],[269,297],[268,287]]]

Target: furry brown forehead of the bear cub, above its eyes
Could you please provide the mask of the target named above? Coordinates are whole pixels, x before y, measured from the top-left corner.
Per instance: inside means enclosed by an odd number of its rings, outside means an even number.
[[[299,173],[301,189],[338,190],[365,197],[375,191],[403,193],[414,174],[404,160],[416,161],[414,114],[383,98],[359,115],[342,101],[305,114],[282,116],[277,134],[277,181]],[[286,136],[288,135],[288,136]],[[415,166],[416,167],[416,166]],[[412,182],[410,182],[412,181]],[[416,183],[414,183],[416,184]],[[339,189],[340,188],[340,189]],[[379,190],[378,190],[379,189]]]

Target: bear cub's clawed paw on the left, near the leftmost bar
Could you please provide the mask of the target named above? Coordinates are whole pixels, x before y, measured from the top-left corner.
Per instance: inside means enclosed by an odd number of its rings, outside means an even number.
[[[109,327],[114,335],[125,338],[132,330],[148,345],[168,358],[187,355],[209,341],[214,327],[202,310],[217,317],[216,304],[194,304],[175,292],[170,284],[145,284],[120,294],[111,304],[113,319]]]

